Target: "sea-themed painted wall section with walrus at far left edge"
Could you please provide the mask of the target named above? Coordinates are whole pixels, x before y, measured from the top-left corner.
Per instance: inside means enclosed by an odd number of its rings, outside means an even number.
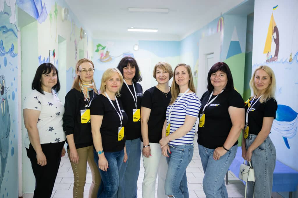
[[[0,197],[17,197],[18,192],[18,49],[15,0],[0,0]]]

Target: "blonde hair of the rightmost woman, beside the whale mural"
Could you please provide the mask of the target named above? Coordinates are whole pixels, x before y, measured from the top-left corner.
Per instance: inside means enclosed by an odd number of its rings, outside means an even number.
[[[254,78],[256,76],[257,70],[264,70],[271,79],[271,83],[269,84],[266,91],[262,94],[262,97],[260,98],[260,103],[266,103],[266,101],[268,99],[274,98],[274,93],[275,93],[275,89],[276,89],[276,78],[275,78],[273,70],[266,65],[261,65],[256,70],[254,70],[254,74],[252,75],[252,78],[249,81],[249,85],[252,88],[254,95],[257,95],[257,93],[258,93],[258,89],[254,84]]]

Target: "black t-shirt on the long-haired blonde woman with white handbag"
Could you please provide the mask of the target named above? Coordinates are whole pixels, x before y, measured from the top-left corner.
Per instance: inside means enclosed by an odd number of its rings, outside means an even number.
[[[263,117],[276,117],[276,110],[277,110],[277,102],[274,98],[270,98],[266,101],[266,103],[260,103],[258,100],[255,104],[254,101],[250,102],[252,108],[249,110],[248,113],[248,126],[249,130],[248,133],[250,134],[259,134],[263,126]],[[248,106],[245,107],[245,116]],[[246,117],[245,117],[246,118]]]

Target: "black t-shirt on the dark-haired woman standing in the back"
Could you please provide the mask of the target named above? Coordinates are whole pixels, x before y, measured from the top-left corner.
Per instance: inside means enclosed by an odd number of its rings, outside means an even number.
[[[131,90],[131,92],[128,90],[125,83],[123,83],[121,92],[120,92],[121,96],[119,98],[122,101],[123,109],[126,112],[128,117],[128,122],[125,126],[126,139],[132,140],[132,139],[137,139],[141,136],[141,122],[134,122],[132,110],[136,109],[136,107],[137,109],[141,109],[143,89],[142,89],[142,86],[137,82],[134,82],[134,86],[128,85],[128,87]],[[134,102],[134,98],[135,98],[134,87],[136,89],[136,98],[137,98],[136,103]],[[131,93],[134,96],[132,96]]]

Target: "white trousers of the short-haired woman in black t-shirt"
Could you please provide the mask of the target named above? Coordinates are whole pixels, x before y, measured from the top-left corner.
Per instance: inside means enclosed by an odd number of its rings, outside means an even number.
[[[143,149],[143,142],[141,142],[141,150]],[[144,179],[142,184],[143,198],[155,197],[155,183],[158,175],[157,197],[167,198],[164,192],[164,181],[167,176],[167,160],[162,155],[160,145],[157,143],[150,143],[151,155],[149,158],[143,157],[143,165],[145,169]]]

